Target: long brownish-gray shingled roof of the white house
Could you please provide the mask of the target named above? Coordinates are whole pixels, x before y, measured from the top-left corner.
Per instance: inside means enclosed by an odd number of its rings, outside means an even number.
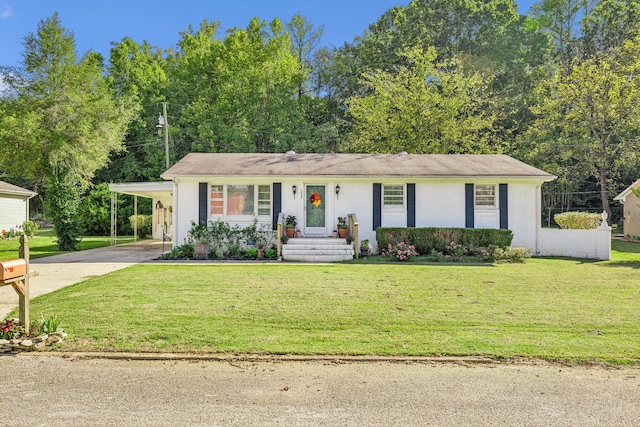
[[[519,177],[555,176],[497,154],[191,153],[162,177],[187,176]]]

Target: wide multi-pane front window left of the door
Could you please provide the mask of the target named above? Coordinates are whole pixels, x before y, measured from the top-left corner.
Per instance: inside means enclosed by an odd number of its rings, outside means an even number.
[[[271,186],[256,184],[211,184],[212,216],[271,215]]]

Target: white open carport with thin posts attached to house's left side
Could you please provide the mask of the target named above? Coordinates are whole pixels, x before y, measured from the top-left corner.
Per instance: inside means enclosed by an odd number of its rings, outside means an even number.
[[[118,193],[133,197],[133,211],[138,214],[138,197],[152,200],[152,237],[156,240],[171,241],[173,236],[173,183],[127,182],[109,184],[111,190],[111,245],[116,244],[118,236]],[[137,227],[133,227],[134,241],[138,240]]]

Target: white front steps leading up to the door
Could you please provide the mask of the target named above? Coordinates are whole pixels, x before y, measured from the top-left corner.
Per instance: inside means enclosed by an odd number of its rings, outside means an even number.
[[[333,237],[299,237],[282,245],[284,261],[338,262],[353,259],[355,251],[346,239]]]

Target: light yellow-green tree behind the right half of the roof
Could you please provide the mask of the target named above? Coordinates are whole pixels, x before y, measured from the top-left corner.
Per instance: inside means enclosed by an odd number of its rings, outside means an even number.
[[[350,151],[487,153],[495,117],[487,107],[482,76],[456,64],[436,65],[435,49],[404,54],[408,66],[365,76],[367,94],[348,100],[354,129]]]

